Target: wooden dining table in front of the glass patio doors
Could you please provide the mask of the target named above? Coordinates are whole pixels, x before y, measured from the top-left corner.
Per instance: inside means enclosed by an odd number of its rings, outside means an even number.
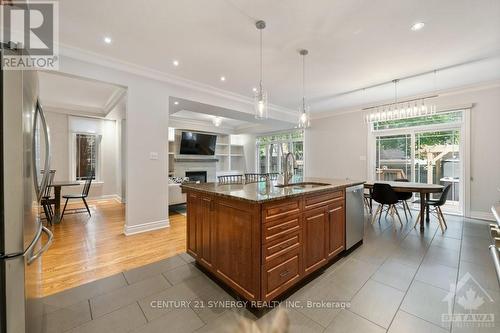
[[[423,231],[425,229],[424,222],[430,221],[429,216],[429,207],[427,207],[426,203],[430,199],[430,195],[432,193],[441,193],[443,192],[444,186],[439,184],[425,184],[425,183],[413,183],[413,182],[397,182],[397,181],[386,181],[386,180],[377,180],[377,181],[368,181],[364,184],[365,188],[370,191],[370,213],[372,212],[372,191],[373,184],[375,183],[383,183],[389,184],[393,188],[395,192],[411,192],[411,193],[419,193],[420,194],[420,230]],[[426,209],[427,207],[427,209]]]

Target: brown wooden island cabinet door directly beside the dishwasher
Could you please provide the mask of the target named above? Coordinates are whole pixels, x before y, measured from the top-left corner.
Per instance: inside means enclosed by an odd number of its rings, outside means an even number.
[[[345,207],[339,200],[328,206],[328,258],[345,249]]]

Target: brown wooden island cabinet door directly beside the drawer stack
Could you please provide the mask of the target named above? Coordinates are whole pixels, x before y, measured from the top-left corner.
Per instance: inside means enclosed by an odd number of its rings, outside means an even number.
[[[304,214],[304,271],[314,271],[326,262],[326,211],[315,209]]]

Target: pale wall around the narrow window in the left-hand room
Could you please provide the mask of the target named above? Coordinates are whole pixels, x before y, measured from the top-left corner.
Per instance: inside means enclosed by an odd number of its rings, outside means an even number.
[[[52,143],[52,165],[56,170],[55,180],[71,180],[70,172],[70,138],[68,114],[45,112],[50,129]],[[102,138],[100,151],[99,179],[93,182],[89,196],[102,198],[119,196],[116,175],[120,173],[117,164],[119,158],[119,142],[117,140],[117,126],[114,120],[96,120],[102,122]],[[64,187],[62,194],[81,193],[82,187]]]

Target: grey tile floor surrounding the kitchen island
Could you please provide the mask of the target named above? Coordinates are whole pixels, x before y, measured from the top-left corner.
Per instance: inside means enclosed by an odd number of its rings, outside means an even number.
[[[363,246],[287,299],[295,305],[287,309],[290,331],[499,332],[487,223],[447,221],[444,235],[432,221],[423,234],[412,222],[400,229],[390,217],[380,225],[367,221]],[[241,316],[262,326],[276,311],[257,318],[231,301],[181,254],[46,297],[45,332],[231,332]],[[312,308],[307,301],[345,306]],[[449,311],[494,319],[464,327],[442,320]]]

